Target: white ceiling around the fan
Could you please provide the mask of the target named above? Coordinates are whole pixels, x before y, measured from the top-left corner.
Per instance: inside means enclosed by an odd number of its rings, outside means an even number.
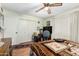
[[[68,11],[72,8],[75,8],[79,6],[79,3],[63,3],[63,6],[60,7],[52,7],[51,8],[51,15],[49,15],[46,10],[41,10],[40,12],[36,13],[35,11],[38,10],[43,6],[42,3],[2,3],[2,7],[22,13],[22,14],[29,14],[29,15],[34,15],[38,16],[41,18],[46,18],[52,15],[57,15],[62,12]]]

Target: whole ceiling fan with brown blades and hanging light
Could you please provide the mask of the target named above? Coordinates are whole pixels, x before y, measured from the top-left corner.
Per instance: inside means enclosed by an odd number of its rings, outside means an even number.
[[[46,8],[48,14],[51,14],[50,8],[51,7],[58,7],[58,6],[62,6],[62,3],[52,3],[52,4],[51,3],[43,3],[43,7],[38,9],[38,10],[36,10],[36,12],[39,12],[39,11],[41,11],[41,10]]]

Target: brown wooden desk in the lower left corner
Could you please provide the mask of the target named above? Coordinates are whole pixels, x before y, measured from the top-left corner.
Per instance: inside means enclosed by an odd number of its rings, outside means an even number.
[[[10,55],[11,38],[2,38],[1,41],[4,42],[4,45],[0,47],[0,56]]]

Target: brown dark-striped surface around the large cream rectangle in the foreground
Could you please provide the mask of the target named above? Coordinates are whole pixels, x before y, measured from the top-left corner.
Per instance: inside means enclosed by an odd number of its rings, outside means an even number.
[[[67,41],[67,40],[66,40]],[[54,42],[54,40],[48,40],[48,41],[42,41],[42,42],[38,42],[38,43],[34,43],[32,44],[32,50],[38,55],[38,56],[72,56],[68,49],[65,49],[59,53],[55,53],[54,51],[52,51],[51,49],[49,49],[48,47],[46,47],[44,45],[44,43],[47,42]],[[72,42],[72,41],[68,41],[68,42]],[[73,43],[73,42],[72,42]],[[75,44],[75,43],[74,43]],[[79,45],[79,44],[78,44]]]

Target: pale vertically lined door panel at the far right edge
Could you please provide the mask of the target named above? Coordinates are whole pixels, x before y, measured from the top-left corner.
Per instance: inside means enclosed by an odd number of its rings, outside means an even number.
[[[78,12],[74,12],[71,16],[71,39],[75,42],[79,42],[79,15]]]

